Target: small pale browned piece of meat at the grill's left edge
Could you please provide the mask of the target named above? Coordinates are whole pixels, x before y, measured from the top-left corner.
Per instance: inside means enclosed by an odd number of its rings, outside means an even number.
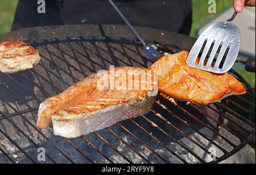
[[[38,51],[22,41],[0,41],[0,72],[32,69],[41,60]]]

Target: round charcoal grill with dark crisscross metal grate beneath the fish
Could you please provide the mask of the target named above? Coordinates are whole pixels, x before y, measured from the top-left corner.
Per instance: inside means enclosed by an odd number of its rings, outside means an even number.
[[[162,52],[191,49],[195,39],[137,28]],[[125,36],[125,38],[123,37]],[[255,135],[255,91],[203,106],[156,97],[150,113],[76,139],[36,126],[40,102],[91,73],[115,66],[147,67],[139,42],[126,26],[52,26],[1,35],[24,40],[42,56],[34,69],[0,73],[0,163],[219,163]],[[38,148],[46,149],[39,161]]]

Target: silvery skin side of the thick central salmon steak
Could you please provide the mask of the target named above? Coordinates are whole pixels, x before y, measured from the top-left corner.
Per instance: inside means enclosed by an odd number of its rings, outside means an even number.
[[[122,120],[147,114],[154,104],[154,100],[155,97],[143,97],[136,102],[116,103],[92,113],[67,116],[65,116],[66,111],[60,110],[52,115],[53,131],[57,136],[77,138],[110,127]],[[60,116],[59,113],[63,116]]]

